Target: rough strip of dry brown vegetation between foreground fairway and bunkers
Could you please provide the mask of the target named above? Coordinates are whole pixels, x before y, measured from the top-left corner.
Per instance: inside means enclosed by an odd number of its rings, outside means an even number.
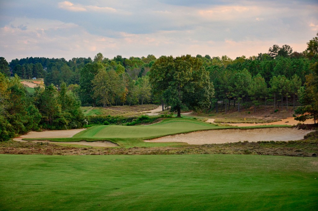
[[[318,131],[306,139],[289,142],[235,142],[189,145],[184,147],[100,148],[35,142],[0,142],[0,154],[41,155],[179,155],[179,154],[251,154],[315,156],[318,154]]]

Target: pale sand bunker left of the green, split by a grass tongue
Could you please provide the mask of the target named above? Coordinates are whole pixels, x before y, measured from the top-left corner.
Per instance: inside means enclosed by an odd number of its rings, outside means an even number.
[[[71,138],[73,135],[83,131],[85,129],[73,129],[73,130],[48,130],[42,132],[35,132],[31,131],[25,135],[21,135],[20,137],[14,138],[14,141],[19,142],[27,142],[22,140],[23,138]],[[31,142],[49,142],[49,143],[62,143],[62,144],[78,144],[78,145],[85,145],[91,147],[116,147],[117,144],[112,142],[51,142],[46,140],[34,140]]]

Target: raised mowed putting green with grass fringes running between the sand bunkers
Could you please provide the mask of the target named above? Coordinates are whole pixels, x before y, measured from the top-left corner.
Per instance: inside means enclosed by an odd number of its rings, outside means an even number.
[[[182,142],[144,142],[143,140],[187,133],[199,130],[229,129],[229,128],[267,128],[267,127],[290,127],[286,125],[262,125],[251,127],[217,126],[195,119],[171,118],[152,125],[122,126],[122,125],[99,125],[83,130],[72,138],[24,138],[23,140],[50,140],[56,142],[76,141],[111,141],[119,147],[162,147],[186,145]]]

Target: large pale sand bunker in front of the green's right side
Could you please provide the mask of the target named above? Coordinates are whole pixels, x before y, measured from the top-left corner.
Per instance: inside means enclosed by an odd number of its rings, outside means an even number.
[[[314,130],[297,128],[213,129],[168,135],[145,142],[186,142],[188,144],[221,144],[230,142],[296,141]]]

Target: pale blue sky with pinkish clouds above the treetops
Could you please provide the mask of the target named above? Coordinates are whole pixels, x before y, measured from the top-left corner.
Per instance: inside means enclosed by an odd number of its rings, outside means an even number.
[[[317,11],[318,0],[0,0],[0,57],[302,52]]]

